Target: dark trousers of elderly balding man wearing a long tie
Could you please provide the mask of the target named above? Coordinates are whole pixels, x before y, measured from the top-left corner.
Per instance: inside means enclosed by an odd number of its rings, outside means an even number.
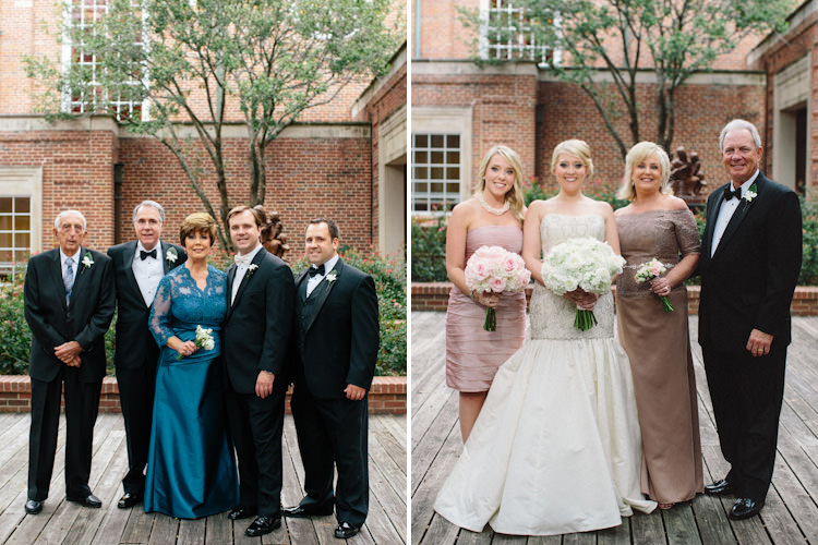
[[[50,383],[32,379],[32,427],[28,436],[28,499],[48,497],[57,453],[60,397],[65,390],[65,495],[91,494],[94,424],[103,383],[82,383],[77,370],[64,367]]]

